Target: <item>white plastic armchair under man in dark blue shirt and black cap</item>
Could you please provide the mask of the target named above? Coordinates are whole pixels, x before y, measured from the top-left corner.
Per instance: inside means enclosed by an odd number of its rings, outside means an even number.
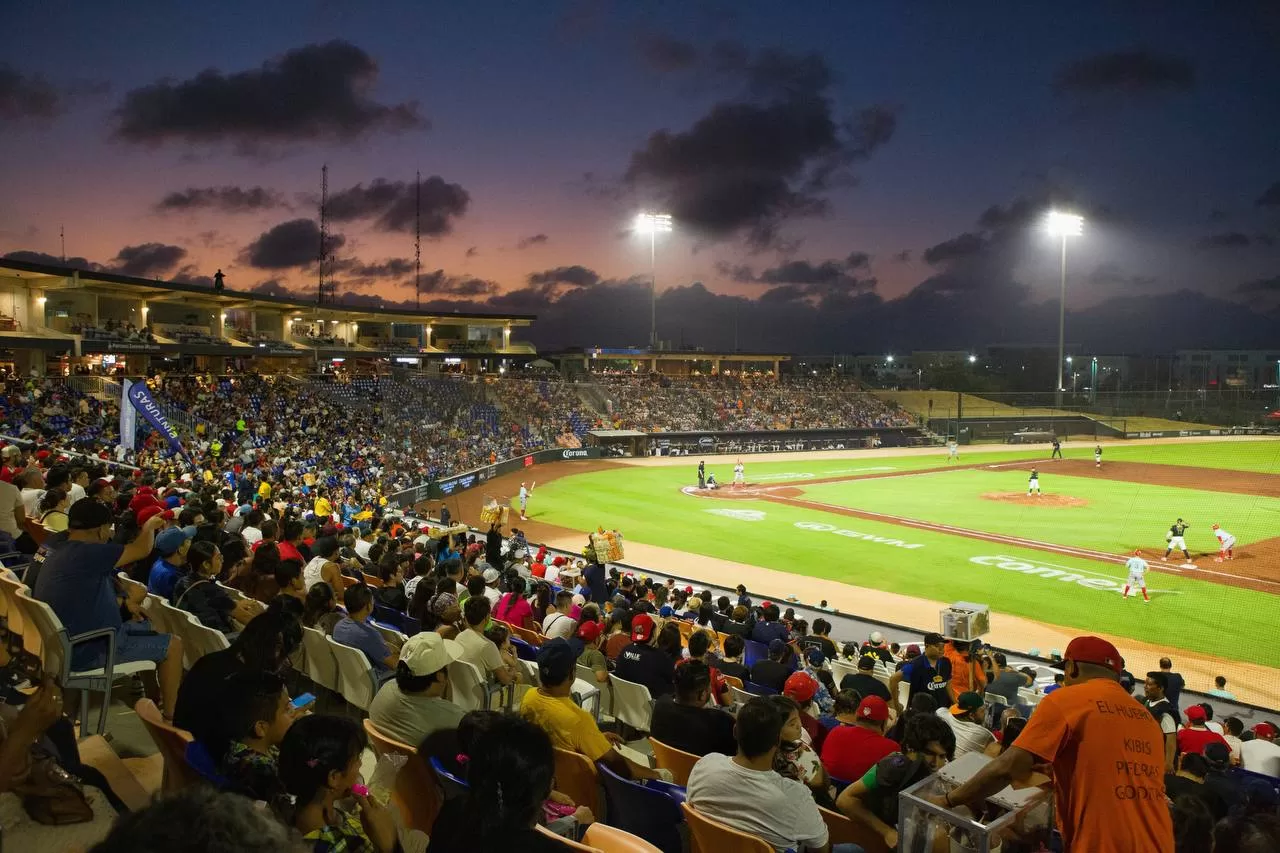
[[[155,670],[152,661],[134,661],[132,663],[115,662],[115,629],[102,628],[95,631],[84,631],[72,637],[67,633],[61,620],[54,608],[42,601],[36,601],[19,593],[13,603],[22,610],[23,628],[38,635],[41,660],[45,671],[51,672],[63,688],[81,692],[81,734],[84,734],[84,725],[88,717],[88,694],[101,693],[102,706],[97,715],[97,734],[106,731],[106,712],[111,704],[111,685],[122,675],[136,675],[147,670]],[[106,639],[106,663],[93,670],[72,670],[72,652],[81,643]],[[23,635],[23,644],[27,638]]]

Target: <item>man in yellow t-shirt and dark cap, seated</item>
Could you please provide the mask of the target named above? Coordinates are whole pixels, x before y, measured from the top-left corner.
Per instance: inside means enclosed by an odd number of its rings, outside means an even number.
[[[602,733],[595,719],[580,708],[572,697],[577,654],[568,640],[557,638],[538,649],[540,686],[529,690],[520,701],[520,715],[540,726],[561,749],[586,756],[591,762],[604,762],[626,779],[662,779],[673,781],[671,772],[643,767],[614,749],[622,738]]]

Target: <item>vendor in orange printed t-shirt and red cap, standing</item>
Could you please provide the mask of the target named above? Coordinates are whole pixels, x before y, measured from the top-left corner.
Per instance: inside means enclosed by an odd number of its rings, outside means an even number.
[[[943,808],[980,804],[1048,763],[1064,849],[1172,853],[1164,736],[1120,686],[1120,653],[1098,637],[1076,637],[1062,658],[1069,689],[1046,695],[1004,754],[933,802]]]

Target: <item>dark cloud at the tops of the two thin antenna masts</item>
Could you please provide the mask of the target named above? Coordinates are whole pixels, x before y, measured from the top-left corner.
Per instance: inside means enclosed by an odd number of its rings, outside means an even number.
[[[443,237],[466,214],[471,195],[456,183],[431,175],[415,187],[412,181],[378,178],[369,186],[339,190],[329,196],[326,211],[334,222],[374,220],[379,231],[412,232],[421,211],[425,237]]]

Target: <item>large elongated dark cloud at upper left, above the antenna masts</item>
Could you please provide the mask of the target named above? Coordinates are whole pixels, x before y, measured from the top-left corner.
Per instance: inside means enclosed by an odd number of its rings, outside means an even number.
[[[115,110],[115,134],[145,145],[233,142],[252,154],[265,145],[352,142],[426,127],[416,101],[374,100],[376,79],[378,63],[349,42],[306,45],[251,70],[210,68],[134,88]]]

